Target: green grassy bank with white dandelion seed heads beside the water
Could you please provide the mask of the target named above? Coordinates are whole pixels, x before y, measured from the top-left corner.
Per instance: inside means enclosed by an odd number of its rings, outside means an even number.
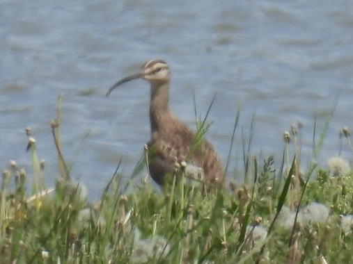
[[[239,115],[240,110],[229,156]],[[70,176],[61,151],[59,96],[58,116],[51,122],[58,153],[58,172],[51,175],[57,178],[55,187],[45,185],[45,162],[29,128],[32,171],[11,160],[2,172],[1,263],[353,263],[350,163],[340,156],[328,160],[329,169],[315,162],[331,115],[320,135],[314,129],[309,162],[301,160],[302,124],[283,134],[279,168],[273,156],[251,155],[251,132],[242,145],[242,185],[228,176],[223,189],[205,191],[179,165],[172,183],[157,191],[139,173],[143,157],[127,183],[119,163],[93,204],[85,186]],[[200,124],[203,135],[210,124],[205,119]],[[353,154],[346,127],[340,140],[340,151],[348,147]]]

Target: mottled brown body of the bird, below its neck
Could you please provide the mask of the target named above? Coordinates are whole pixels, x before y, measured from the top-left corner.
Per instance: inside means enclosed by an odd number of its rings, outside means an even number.
[[[169,117],[168,124],[152,131],[148,142],[149,171],[157,183],[164,183],[166,174],[173,174],[175,163],[186,161],[187,164],[201,167],[205,181],[214,185],[223,183],[223,167],[214,147],[201,140],[185,124],[175,117]]]

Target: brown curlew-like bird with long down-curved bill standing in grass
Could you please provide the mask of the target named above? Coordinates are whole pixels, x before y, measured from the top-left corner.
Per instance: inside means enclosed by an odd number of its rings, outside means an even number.
[[[118,86],[134,79],[143,79],[150,83],[151,136],[146,149],[148,171],[152,179],[163,185],[166,175],[173,175],[175,172],[175,165],[186,162],[191,171],[195,168],[201,169],[206,184],[222,186],[224,171],[217,151],[205,139],[194,147],[196,133],[175,117],[169,108],[171,70],[168,64],[160,59],[143,63],[138,73],[112,85],[107,91],[107,97]]]

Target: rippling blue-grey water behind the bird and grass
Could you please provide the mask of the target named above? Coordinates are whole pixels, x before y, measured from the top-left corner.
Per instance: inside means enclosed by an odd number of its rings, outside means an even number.
[[[129,175],[150,136],[149,85],[110,85],[146,60],[172,70],[171,108],[195,127],[214,121],[207,138],[226,162],[233,122],[242,105],[230,171],[242,168],[242,129],[255,132],[252,153],[281,159],[283,131],[304,123],[310,156],[314,118],[334,117],[320,162],[338,154],[338,132],[353,128],[352,1],[0,1],[0,160],[31,170],[24,128],[31,126],[46,177],[58,176],[50,120],[63,95],[62,144],[72,175],[93,198],[120,158]],[[86,140],[81,144],[81,140]],[[343,156],[352,160],[344,149]],[[304,159],[306,162],[309,158]]]

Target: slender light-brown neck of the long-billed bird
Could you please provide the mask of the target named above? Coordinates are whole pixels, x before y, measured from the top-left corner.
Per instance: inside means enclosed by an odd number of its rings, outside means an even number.
[[[151,132],[162,131],[171,118],[169,110],[169,81],[151,84],[150,125]]]

